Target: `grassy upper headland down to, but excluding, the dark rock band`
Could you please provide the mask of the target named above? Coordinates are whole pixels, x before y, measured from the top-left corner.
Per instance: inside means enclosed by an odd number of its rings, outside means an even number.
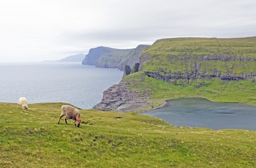
[[[165,72],[191,71],[192,65],[200,64],[200,72],[212,73],[217,69],[225,75],[232,70],[233,75],[243,72],[253,73],[256,58],[256,37],[238,39],[217,38],[173,38],[157,40],[151,47],[143,50],[143,56],[150,58],[146,64],[141,65],[142,71]],[[230,57],[230,61],[205,61],[204,56],[214,58]],[[244,61],[240,61],[244,59]],[[253,60],[253,61],[251,61]]]

